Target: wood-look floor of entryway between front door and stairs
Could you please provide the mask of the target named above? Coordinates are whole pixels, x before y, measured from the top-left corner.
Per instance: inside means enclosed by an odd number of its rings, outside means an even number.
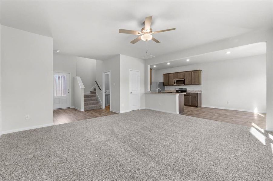
[[[54,125],[75,122],[85,119],[97,118],[101,116],[109,116],[117,114],[110,111],[110,106],[105,106],[105,109],[94,109],[79,111],[75,108],[53,110]]]

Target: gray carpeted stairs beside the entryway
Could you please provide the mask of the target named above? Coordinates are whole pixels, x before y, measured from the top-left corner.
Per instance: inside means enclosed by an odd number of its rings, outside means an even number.
[[[84,110],[101,109],[102,105],[99,104],[96,96],[96,88],[90,91],[90,94],[84,94]]]

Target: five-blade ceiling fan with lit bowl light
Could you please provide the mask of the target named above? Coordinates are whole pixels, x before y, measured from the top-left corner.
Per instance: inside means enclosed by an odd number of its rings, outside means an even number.
[[[156,43],[160,43],[160,41],[156,40],[152,36],[152,34],[161,33],[161,32],[164,32],[164,31],[175,30],[175,28],[171,28],[171,29],[167,29],[167,30],[160,30],[160,31],[154,31],[153,32],[152,29],[151,29],[151,21],[152,21],[152,16],[145,17],[145,21],[143,22],[143,24],[145,25],[145,27],[143,27],[140,31],[119,29],[118,33],[140,35],[139,37],[137,37],[136,39],[134,39],[134,40],[132,40],[130,42],[130,43],[133,43],[133,44],[137,43],[140,40],[143,40],[143,41],[153,40]]]

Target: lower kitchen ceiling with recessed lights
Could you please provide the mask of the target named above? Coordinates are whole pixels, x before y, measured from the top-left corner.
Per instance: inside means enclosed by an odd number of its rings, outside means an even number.
[[[226,52],[231,52],[227,54]],[[266,54],[266,43],[254,43],[245,46],[238,46],[235,48],[220,50],[216,52],[205,53],[202,55],[187,57],[180,60],[175,60],[171,62],[165,62],[160,64],[151,65],[150,68],[155,70],[163,69],[163,68],[172,68],[172,67],[179,67],[185,65],[192,65],[192,64],[199,64],[199,63],[207,63],[213,61],[221,61],[221,60],[229,60],[229,59],[237,59],[241,57],[248,57],[248,56],[255,56]],[[187,59],[190,59],[188,62]],[[167,63],[170,63],[169,65]]]

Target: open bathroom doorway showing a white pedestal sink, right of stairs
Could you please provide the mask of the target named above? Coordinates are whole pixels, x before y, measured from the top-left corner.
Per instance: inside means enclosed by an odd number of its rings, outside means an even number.
[[[111,74],[110,71],[102,73],[102,109],[110,110],[111,107]]]

